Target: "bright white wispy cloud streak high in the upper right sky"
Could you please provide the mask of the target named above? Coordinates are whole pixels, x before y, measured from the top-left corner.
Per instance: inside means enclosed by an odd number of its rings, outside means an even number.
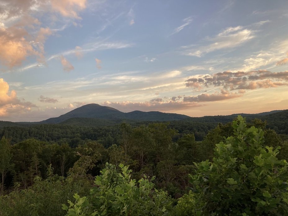
[[[197,49],[188,48],[190,46],[186,46],[188,49],[183,47],[186,49],[184,50],[184,54],[201,57],[206,53],[216,50],[240,46],[254,37],[253,30],[243,29],[243,26],[229,27],[217,34],[214,38],[206,39],[206,42],[209,42],[208,45],[200,46]]]

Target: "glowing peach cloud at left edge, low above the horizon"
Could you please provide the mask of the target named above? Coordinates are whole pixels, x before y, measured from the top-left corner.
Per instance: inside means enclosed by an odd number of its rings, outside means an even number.
[[[9,85],[0,78],[0,117],[8,116],[11,113],[24,113],[36,107],[29,101],[19,100],[14,90],[9,92]]]

